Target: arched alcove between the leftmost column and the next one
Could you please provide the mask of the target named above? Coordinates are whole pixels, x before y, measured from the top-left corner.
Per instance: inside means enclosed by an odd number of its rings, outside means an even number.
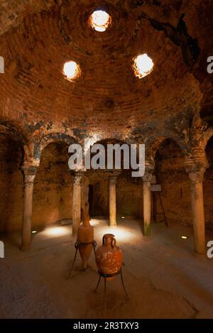
[[[49,143],[41,152],[33,190],[34,229],[71,222],[72,177],[68,158],[68,145],[63,142]]]

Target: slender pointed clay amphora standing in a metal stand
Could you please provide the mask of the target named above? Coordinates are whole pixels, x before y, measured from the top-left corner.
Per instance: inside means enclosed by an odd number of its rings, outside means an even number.
[[[94,227],[89,224],[89,214],[84,214],[84,220],[82,226],[77,230],[77,241],[80,242],[79,251],[83,262],[83,268],[87,268],[87,261],[91,255],[94,240]]]

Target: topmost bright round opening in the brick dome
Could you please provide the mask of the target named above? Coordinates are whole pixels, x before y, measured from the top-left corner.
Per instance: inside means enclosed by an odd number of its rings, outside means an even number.
[[[107,11],[97,10],[89,16],[89,24],[95,31],[103,33],[111,24],[111,16]]]

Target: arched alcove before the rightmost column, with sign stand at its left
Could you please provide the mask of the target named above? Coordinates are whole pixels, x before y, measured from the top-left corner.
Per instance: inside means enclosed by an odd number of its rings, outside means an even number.
[[[162,188],[160,196],[168,223],[192,224],[190,180],[184,161],[182,149],[172,138],[165,138],[158,146],[153,174],[157,175],[157,182]],[[156,209],[163,212],[158,197]],[[159,214],[157,222],[162,220],[163,215]]]

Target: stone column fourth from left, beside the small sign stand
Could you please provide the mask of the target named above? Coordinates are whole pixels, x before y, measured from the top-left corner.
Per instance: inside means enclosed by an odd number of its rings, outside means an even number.
[[[151,180],[152,174],[143,176],[143,223],[144,236],[151,236]]]

